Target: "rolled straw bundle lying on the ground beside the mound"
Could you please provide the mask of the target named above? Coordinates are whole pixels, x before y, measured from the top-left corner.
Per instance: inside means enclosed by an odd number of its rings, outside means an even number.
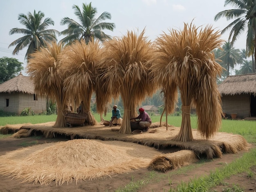
[[[150,162],[149,170],[166,172],[189,165],[198,161],[196,154],[191,150],[180,150],[173,153],[159,154]]]

